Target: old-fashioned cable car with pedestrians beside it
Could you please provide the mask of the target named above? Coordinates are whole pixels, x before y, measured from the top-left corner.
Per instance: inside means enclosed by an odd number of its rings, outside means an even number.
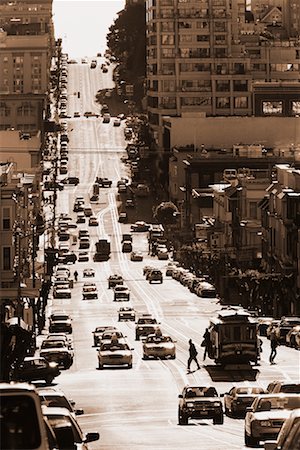
[[[242,308],[224,308],[210,319],[207,352],[216,364],[248,364],[259,359],[257,321]]]

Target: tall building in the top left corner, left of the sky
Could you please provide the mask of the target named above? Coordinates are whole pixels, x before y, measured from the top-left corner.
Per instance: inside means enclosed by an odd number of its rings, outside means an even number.
[[[52,0],[0,2],[0,129],[43,129],[55,47]]]

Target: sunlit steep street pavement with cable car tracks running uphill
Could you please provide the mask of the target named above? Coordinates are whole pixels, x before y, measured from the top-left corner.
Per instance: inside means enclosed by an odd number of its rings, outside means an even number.
[[[261,365],[256,370],[225,373],[216,369],[213,361],[203,362],[200,343],[209,317],[220,309],[218,300],[199,298],[170,277],[164,276],[163,284],[150,285],[142,274],[143,267],[150,264],[165,273],[167,261],[158,261],[148,255],[146,233],[136,233],[133,238],[133,250],[143,252],[143,262],[132,262],[128,254],[121,252],[121,235],[130,229],[129,223],[118,222],[122,199],[116,187],[121,176],[129,175],[128,168],[120,160],[126,154],[125,123],[114,127],[112,121],[104,124],[101,118],[83,116],[85,111],[99,113],[99,104],[95,102],[98,89],[113,87],[112,68],[110,66],[109,72],[103,74],[99,67],[102,61],[98,58],[97,69],[90,69],[89,64],[69,65],[68,114],[73,117],[74,112],[79,111],[81,117],[67,119],[68,168],[69,175],[80,178],[80,184],[66,186],[58,193],[57,213],[68,213],[75,221],[74,199],[83,195],[89,204],[96,176],[112,179],[113,185],[109,189],[100,189],[99,202],[91,205],[99,226],[78,226],[89,228],[92,242],[90,261],[70,265],[72,273],[75,269],[79,273],[72,298],[50,299],[48,304],[49,314],[64,310],[73,318],[74,364],[69,370],[62,371],[55,381],[78,407],[84,408],[85,414],[78,418],[83,430],[100,432],[100,440],[89,444],[92,449],[242,449],[243,419],[225,416],[223,425],[213,425],[212,420],[190,420],[189,425],[179,426],[178,394],[186,384],[212,384],[219,393],[224,393],[235,385],[266,387],[275,379],[299,380],[299,353],[280,347],[277,364],[271,366],[268,362],[269,342],[263,338]],[[80,98],[74,95],[78,91]],[[75,235],[77,231],[72,230],[72,233]],[[111,258],[108,262],[95,263],[92,259],[94,243],[104,233],[111,239]],[[78,243],[70,247],[78,253]],[[89,267],[96,270],[93,281],[98,287],[97,300],[82,299],[82,271]],[[142,343],[135,341],[134,322],[118,322],[117,310],[122,303],[113,302],[112,290],[107,287],[107,278],[112,273],[119,273],[126,280],[131,291],[130,305],[138,313],[152,313],[161,323],[163,332],[177,341],[175,360],[142,359]],[[99,325],[116,325],[127,336],[134,348],[132,369],[97,369],[92,331]],[[186,371],[189,338],[194,340],[201,362],[201,369],[191,374]]]

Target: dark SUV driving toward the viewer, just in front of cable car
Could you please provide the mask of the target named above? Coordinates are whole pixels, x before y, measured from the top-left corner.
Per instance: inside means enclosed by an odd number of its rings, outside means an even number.
[[[214,424],[223,424],[222,401],[213,386],[185,386],[178,397],[179,425],[187,425],[189,419],[213,419]]]

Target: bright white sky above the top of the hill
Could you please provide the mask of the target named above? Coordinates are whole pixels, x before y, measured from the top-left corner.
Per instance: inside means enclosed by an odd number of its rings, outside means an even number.
[[[125,0],[53,0],[55,37],[71,58],[102,53],[108,28],[124,6]]]

